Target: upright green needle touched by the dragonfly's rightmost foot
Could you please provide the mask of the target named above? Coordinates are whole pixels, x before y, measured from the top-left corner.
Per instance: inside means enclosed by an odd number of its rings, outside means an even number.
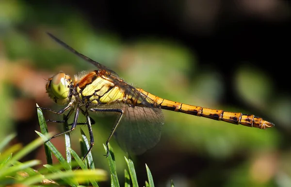
[[[105,149],[105,153],[107,154],[107,147],[106,145],[104,145],[104,149]],[[114,187],[119,187],[119,182],[118,182],[118,177],[117,177],[117,173],[116,173],[116,166],[115,166],[115,157],[114,157],[114,153],[113,153],[113,149],[110,146],[110,144],[108,144],[109,147],[109,155],[108,155],[108,161],[109,161],[109,168],[110,168],[110,175],[111,175],[111,183],[112,186]]]

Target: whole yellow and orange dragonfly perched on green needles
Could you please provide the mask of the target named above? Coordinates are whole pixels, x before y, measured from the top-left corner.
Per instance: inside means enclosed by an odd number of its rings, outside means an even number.
[[[95,71],[75,75],[74,79],[65,72],[59,72],[49,77],[46,84],[49,97],[58,105],[65,107],[59,111],[42,108],[58,115],[65,115],[64,121],[67,121],[74,114],[73,122],[70,124],[71,128],[52,136],[46,142],[73,131],[79,124],[87,125],[90,147],[82,159],[86,158],[94,145],[92,125],[95,121],[90,117],[89,113],[91,112],[118,114],[105,143],[107,147],[105,156],[109,155],[108,144],[113,135],[119,146],[129,154],[140,155],[158,144],[164,124],[162,109],[259,129],[275,126],[272,122],[255,115],[226,112],[162,99],[142,88],[129,85],[116,72],[82,55],[54,35],[47,34],[55,42],[93,64],[96,68]],[[65,114],[66,112],[67,114]],[[85,123],[78,123],[80,114],[86,117]]]

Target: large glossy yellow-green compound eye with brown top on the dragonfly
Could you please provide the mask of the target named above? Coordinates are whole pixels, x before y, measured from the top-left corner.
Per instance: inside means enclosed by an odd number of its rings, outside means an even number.
[[[65,73],[58,73],[51,79],[51,91],[59,99],[65,99],[69,94],[70,77]]]

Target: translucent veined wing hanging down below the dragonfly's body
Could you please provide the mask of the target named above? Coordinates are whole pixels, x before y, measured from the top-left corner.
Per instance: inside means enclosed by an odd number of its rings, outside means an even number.
[[[164,117],[161,108],[122,106],[124,116],[114,136],[129,154],[139,155],[154,147],[161,138]]]

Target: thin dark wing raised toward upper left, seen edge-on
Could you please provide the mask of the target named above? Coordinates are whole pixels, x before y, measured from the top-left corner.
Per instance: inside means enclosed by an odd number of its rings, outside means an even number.
[[[95,65],[99,70],[106,70],[107,72],[110,72],[112,75],[114,75],[115,77],[119,77],[118,74],[116,72],[114,72],[113,70],[110,70],[109,68],[107,68],[106,66],[98,63],[95,60],[92,60],[89,57],[86,57],[85,55],[79,53],[78,51],[76,51],[75,49],[73,49],[71,46],[69,46],[68,44],[66,44],[65,42],[61,41],[60,39],[58,39],[57,37],[55,37],[54,35],[50,34],[49,32],[47,32],[47,34],[57,43],[61,44],[63,47],[65,47],[66,49],[68,49],[69,51],[71,51],[72,53],[74,53],[75,55],[77,55],[78,57],[90,62],[91,64]]]

